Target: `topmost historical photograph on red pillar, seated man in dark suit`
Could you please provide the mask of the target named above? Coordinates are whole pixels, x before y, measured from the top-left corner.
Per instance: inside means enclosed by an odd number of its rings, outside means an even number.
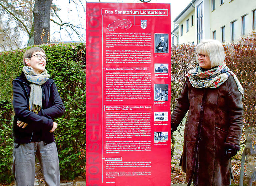
[[[168,34],[155,34],[155,53],[168,53]]]

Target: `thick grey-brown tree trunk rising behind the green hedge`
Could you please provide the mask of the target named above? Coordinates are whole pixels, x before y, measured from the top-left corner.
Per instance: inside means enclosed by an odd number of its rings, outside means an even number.
[[[52,0],[35,0],[34,45],[50,43],[50,10]]]

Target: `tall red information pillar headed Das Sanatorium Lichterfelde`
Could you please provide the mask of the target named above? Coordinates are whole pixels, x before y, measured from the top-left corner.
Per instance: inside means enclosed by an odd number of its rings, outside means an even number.
[[[87,185],[170,185],[170,4],[86,12]]]

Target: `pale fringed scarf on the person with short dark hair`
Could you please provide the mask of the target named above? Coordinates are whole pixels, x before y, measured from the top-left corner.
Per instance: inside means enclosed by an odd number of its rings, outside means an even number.
[[[40,85],[48,81],[50,75],[44,70],[41,74],[36,74],[32,67],[24,66],[24,72],[30,84],[29,110],[38,113],[42,108],[43,93]]]

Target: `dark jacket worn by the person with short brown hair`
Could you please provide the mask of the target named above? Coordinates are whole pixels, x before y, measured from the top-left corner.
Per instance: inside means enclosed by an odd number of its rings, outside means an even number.
[[[53,127],[53,119],[62,116],[65,108],[53,79],[49,79],[41,87],[43,92],[42,109],[35,114],[29,110],[30,82],[23,72],[13,80],[12,102],[15,112],[13,136],[15,143],[30,143],[35,134],[41,134],[40,141],[44,141],[45,144],[54,141],[54,135],[49,131]],[[17,126],[17,120],[28,125],[23,129]]]

